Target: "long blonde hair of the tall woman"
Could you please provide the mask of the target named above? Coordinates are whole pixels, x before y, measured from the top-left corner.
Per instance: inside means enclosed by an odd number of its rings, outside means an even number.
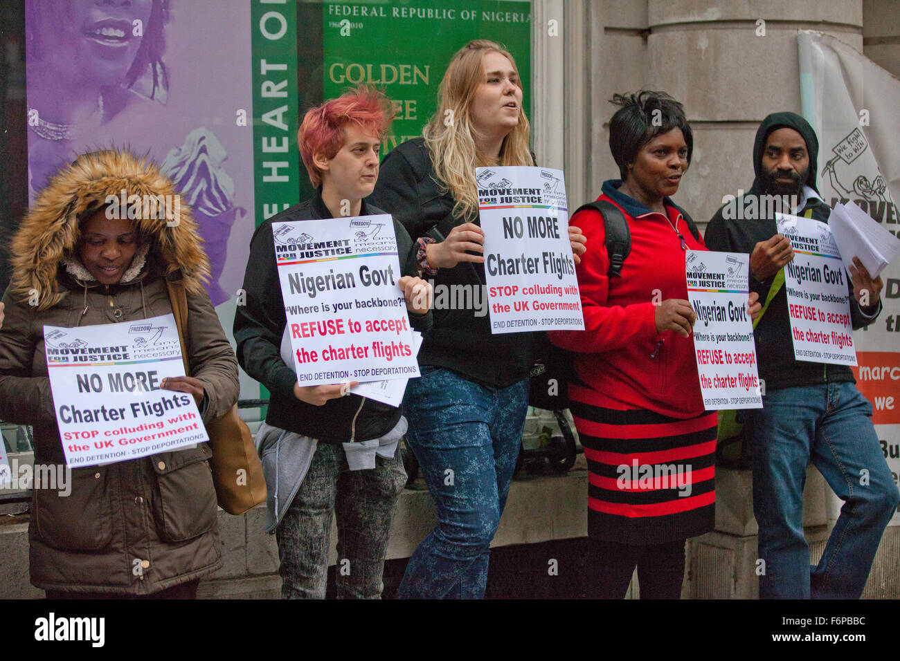
[[[464,219],[478,214],[476,166],[535,165],[528,147],[531,127],[523,108],[519,108],[516,128],[503,138],[500,158],[482,153],[475,142],[478,132],[472,125],[472,102],[484,81],[484,56],[491,51],[509,59],[518,74],[516,61],[499,43],[470,41],[450,60],[437,92],[437,112],[422,130],[438,183],[453,194],[454,214]]]

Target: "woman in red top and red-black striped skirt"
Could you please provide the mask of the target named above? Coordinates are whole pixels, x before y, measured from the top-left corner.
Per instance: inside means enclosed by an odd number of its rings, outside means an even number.
[[[685,251],[707,248],[670,199],[693,136],[667,94],[613,103],[609,147],[622,180],[604,183],[599,200],[623,211],[631,252],[611,276],[599,212],[572,218],[589,246],[577,267],[585,330],[550,335],[575,353],[569,397],[595,541],[589,595],[623,598],[637,567],[642,598],[677,599],[685,541],[713,529],[716,503],[716,412],[700,396],[685,281]]]

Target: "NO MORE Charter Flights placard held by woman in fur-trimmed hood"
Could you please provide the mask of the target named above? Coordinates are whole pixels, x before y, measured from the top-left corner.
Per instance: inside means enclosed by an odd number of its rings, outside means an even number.
[[[59,437],[69,466],[92,466],[209,441],[193,397],[161,390],[184,376],[175,317],[44,326]]]

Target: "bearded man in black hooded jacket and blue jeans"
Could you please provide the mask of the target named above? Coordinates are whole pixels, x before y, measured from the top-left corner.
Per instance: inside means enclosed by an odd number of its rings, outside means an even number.
[[[753,512],[760,526],[761,598],[843,598],[862,594],[881,534],[900,494],[872,425],[872,406],[845,365],[797,361],[791,340],[785,266],[794,259],[775,211],[828,222],[816,188],[819,143],[793,112],[762,121],[753,145],[756,178],[746,195],[710,220],[710,250],[750,255],[750,287],[763,308],[754,335],[763,407],[748,413],[753,446]],[[853,328],[881,311],[881,278],[853,258],[848,293]],[[803,533],[803,487],[812,462],[842,498],[841,515],[818,565]]]

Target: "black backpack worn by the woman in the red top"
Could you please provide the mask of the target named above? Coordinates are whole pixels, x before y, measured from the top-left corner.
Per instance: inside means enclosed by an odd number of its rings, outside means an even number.
[[[609,255],[609,277],[621,278],[622,265],[631,252],[631,230],[628,229],[628,221],[615,204],[606,200],[596,200],[582,204],[572,216],[583,210],[598,211],[603,217],[606,228],[607,255]],[[694,220],[688,213],[679,209],[682,218],[688,223],[688,229],[696,240],[700,240],[700,233]],[[577,381],[575,365],[572,353],[551,344],[544,335],[543,340],[536,349],[535,364],[531,368],[530,383],[528,385],[528,404],[550,411],[559,411],[568,408],[569,397],[567,395],[569,381]]]

